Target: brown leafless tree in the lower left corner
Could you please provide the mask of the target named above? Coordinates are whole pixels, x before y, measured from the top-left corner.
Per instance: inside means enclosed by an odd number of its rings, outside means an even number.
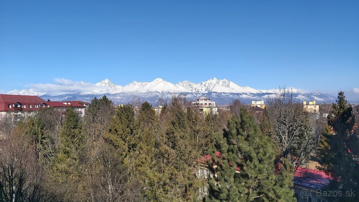
[[[12,128],[0,140],[0,201],[51,202],[42,187],[42,167],[25,132]]]

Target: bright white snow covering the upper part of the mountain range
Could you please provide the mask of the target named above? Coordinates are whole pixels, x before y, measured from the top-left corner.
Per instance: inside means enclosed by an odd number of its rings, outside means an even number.
[[[200,95],[203,93],[214,93],[214,94],[227,94],[227,93],[236,93],[239,94],[240,97],[249,96],[254,99],[254,97],[260,96],[262,93],[277,93],[277,89],[270,90],[257,90],[251,87],[241,87],[238,84],[228,81],[227,79],[217,79],[212,78],[208,81],[203,81],[200,83],[192,83],[190,81],[178,82],[177,84],[173,84],[171,82],[164,81],[161,78],[156,78],[151,82],[137,82],[134,81],[126,86],[122,87],[119,85],[113,84],[108,78],[104,79],[101,82],[96,84],[85,83],[85,82],[76,82],[74,86],[69,85],[55,85],[50,87],[37,88],[36,85],[33,89],[24,89],[19,91],[15,89],[14,91],[9,91],[8,94],[15,95],[44,95],[49,92],[50,95],[55,91],[53,95],[62,95],[65,93],[74,93],[74,91],[80,92],[81,95],[102,95],[102,94],[117,94],[117,93],[146,93],[151,92],[154,94],[161,93],[193,93],[193,95]],[[55,89],[55,90],[54,90]],[[78,90],[78,91],[77,91]],[[295,93],[305,93],[303,90],[294,89]],[[121,94],[122,95],[122,94]],[[168,94],[169,95],[169,94]],[[263,95],[262,95],[263,96]],[[260,97],[262,97],[260,96]]]

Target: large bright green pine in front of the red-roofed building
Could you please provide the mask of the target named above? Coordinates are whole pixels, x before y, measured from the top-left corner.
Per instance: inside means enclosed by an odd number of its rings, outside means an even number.
[[[208,167],[213,177],[208,179],[206,201],[295,201],[290,189],[293,167],[275,166],[274,144],[245,109],[216,136],[211,157]]]

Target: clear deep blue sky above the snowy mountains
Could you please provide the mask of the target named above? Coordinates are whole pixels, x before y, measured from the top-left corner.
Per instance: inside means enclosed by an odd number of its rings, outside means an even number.
[[[359,1],[0,1],[0,69],[1,92],[216,77],[356,99]]]

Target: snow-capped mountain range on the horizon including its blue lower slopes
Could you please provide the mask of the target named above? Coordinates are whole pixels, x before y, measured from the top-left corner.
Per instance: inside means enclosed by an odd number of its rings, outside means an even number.
[[[244,103],[250,103],[252,100],[265,100],[268,96],[277,92],[277,89],[258,90],[248,86],[241,87],[227,79],[219,80],[216,78],[197,84],[189,81],[173,84],[157,78],[152,82],[134,81],[126,86],[115,85],[109,81],[109,79],[105,79],[96,84],[79,82],[77,85],[86,86],[87,91],[54,95],[53,93],[45,93],[37,89],[24,89],[21,91],[15,89],[14,91],[9,91],[8,94],[38,95],[43,99],[50,99],[52,101],[91,101],[93,97],[106,95],[117,103],[131,102],[132,98],[137,96],[144,101],[155,104],[158,98],[168,99],[171,98],[173,93],[185,93],[190,100],[200,96],[206,96],[216,101],[216,104],[229,104],[235,99],[239,99]],[[325,93],[299,92],[297,89],[293,89],[293,92],[299,101],[316,100],[318,102],[334,102],[336,98],[335,96]]]

